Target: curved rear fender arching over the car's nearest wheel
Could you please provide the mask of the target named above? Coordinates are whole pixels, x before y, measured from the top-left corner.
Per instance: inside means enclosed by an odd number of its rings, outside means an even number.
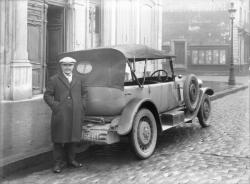
[[[158,130],[161,128],[161,126],[159,126],[160,117],[155,104],[150,99],[134,98],[125,106],[125,108],[122,111],[117,130],[119,135],[126,135],[131,131],[134,117],[138,112],[138,110],[141,108],[149,109],[155,117]]]

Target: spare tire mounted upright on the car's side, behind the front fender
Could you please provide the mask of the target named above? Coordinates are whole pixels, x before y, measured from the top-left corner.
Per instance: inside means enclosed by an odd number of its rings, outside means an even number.
[[[194,74],[188,75],[183,85],[183,98],[187,109],[193,112],[199,101],[199,83]]]

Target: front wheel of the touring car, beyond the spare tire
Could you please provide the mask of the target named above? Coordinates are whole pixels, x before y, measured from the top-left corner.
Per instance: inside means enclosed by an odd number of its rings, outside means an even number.
[[[205,96],[202,99],[201,106],[197,115],[200,125],[204,128],[209,126],[208,119],[210,113],[211,113],[210,97],[207,94],[205,94]]]

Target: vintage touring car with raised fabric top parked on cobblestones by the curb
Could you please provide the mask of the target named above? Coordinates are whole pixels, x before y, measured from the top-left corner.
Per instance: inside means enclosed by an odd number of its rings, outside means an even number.
[[[196,117],[202,127],[209,125],[213,90],[202,87],[193,74],[176,76],[174,55],[144,45],[119,45],[60,57],[65,56],[77,60],[75,69],[88,89],[83,141],[112,144],[128,136],[136,156],[146,159],[161,132]],[[152,61],[163,69],[150,74]]]

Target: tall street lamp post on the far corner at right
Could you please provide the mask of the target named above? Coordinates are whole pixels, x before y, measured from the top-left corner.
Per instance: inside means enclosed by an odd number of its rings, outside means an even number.
[[[229,69],[229,85],[235,85],[235,76],[234,76],[234,56],[233,56],[233,23],[235,18],[236,9],[234,9],[234,3],[230,3],[230,8],[228,9],[229,17],[231,20],[231,57],[230,57],[230,69]]]

